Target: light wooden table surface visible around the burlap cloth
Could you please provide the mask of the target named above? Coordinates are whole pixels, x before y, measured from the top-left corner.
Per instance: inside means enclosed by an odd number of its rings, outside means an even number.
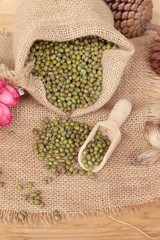
[[[42,0],[44,1],[44,0]],[[0,0],[0,29],[12,30],[12,21],[21,0]],[[160,24],[160,0],[153,0],[153,22]],[[116,216],[146,232],[150,239],[160,239],[160,204],[136,213]],[[0,225],[0,240],[145,240],[149,239],[129,226],[107,216],[85,217],[54,226],[27,227]]]

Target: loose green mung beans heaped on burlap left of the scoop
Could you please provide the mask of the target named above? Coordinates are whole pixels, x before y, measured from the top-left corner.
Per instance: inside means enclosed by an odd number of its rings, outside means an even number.
[[[87,124],[70,119],[44,119],[42,130],[33,130],[37,138],[33,151],[45,162],[44,169],[53,174],[83,176],[87,172],[79,167],[77,157],[90,131]]]

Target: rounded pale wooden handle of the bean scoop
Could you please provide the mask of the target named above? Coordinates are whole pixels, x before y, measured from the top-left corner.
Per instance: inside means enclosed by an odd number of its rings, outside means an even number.
[[[120,126],[125,122],[132,111],[132,104],[127,99],[119,100],[114,106],[107,121],[115,122]]]

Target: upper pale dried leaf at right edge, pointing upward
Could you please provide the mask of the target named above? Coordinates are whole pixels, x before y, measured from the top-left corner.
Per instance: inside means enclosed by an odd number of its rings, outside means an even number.
[[[153,148],[160,150],[160,130],[157,125],[152,122],[146,122],[144,129],[145,137]]]

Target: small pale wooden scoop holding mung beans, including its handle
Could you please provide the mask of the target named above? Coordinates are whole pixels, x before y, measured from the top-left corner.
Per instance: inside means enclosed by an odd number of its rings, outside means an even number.
[[[112,112],[109,115],[108,120],[98,122],[94,128],[92,129],[91,133],[89,134],[88,138],[84,142],[83,146],[81,147],[79,154],[78,154],[78,162],[80,166],[88,171],[88,169],[85,168],[85,166],[82,163],[83,160],[83,151],[85,150],[88,143],[93,140],[97,130],[100,130],[104,136],[108,136],[109,140],[111,141],[111,145],[109,149],[107,150],[103,161],[100,163],[99,166],[94,166],[93,172],[100,171],[108,159],[110,158],[111,154],[119,144],[121,140],[121,132],[119,128],[121,125],[125,122],[125,120],[128,118],[132,111],[132,105],[131,103],[126,99],[119,100],[116,105],[114,106]]]

